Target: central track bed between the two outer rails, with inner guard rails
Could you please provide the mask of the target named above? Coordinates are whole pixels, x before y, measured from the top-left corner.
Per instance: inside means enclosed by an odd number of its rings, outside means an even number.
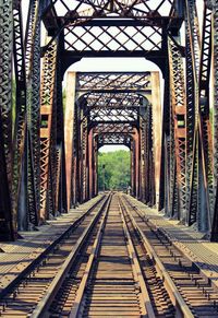
[[[32,317],[175,317],[133,229],[120,196],[112,196],[77,262],[62,284],[51,286]]]

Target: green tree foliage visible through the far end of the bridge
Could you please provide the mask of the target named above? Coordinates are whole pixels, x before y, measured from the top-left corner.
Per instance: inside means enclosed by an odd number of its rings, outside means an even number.
[[[105,189],[126,189],[130,185],[130,152],[119,150],[114,152],[98,153],[99,190],[104,190],[104,165]]]

